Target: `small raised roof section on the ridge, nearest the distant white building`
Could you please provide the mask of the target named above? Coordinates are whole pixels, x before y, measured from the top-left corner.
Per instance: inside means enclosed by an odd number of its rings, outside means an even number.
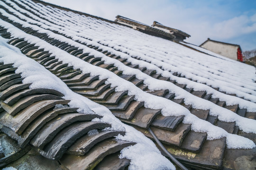
[[[155,27],[155,28],[158,28],[158,29],[160,29],[160,30],[165,31],[166,33],[171,33],[171,34],[173,34],[173,35],[175,36],[175,39],[176,39],[177,41],[182,41],[182,42],[183,42],[187,37],[188,37],[188,38],[190,37],[189,34],[184,33],[184,32],[181,31],[181,30],[177,30],[177,29],[174,29],[174,28],[170,28],[170,27],[168,27],[168,26],[164,26],[164,25],[162,25],[162,24],[160,24],[160,23],[158,23],[158,22],[156,22],[156,21],[153,22],[153,25],[152,25],[152,26]]]

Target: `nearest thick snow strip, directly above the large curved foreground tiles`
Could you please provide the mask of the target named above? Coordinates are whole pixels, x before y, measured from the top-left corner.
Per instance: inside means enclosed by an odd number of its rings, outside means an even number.
[[[122,151],[122,157],[131,160],[132,166],[129,169],[147,170],[148,167],[152,169],[175,169],[174,165],[161,155],[160,151],[150,139],[146,138],[133,127],[123,124],[119,119],[115,118],[106,107],[72,92],[61,79],[53,75],[33,59],[27,58],[18,48],[7,44],[7,40],[2,37],[0,37],[0,51],[0,62],[4,62],[4,64],[14,63],[13,67],[17,68],[16,73],[21,73],[21,76],[25,77],[23,83],[32,83],[30,88],[55,89],[63,93],[65,99],[71,100],[69,105],[71,107],[78,107],[79,112],[85,114],[94,114],[95,112],[103,116],[103,118],[95,119],[94,121],[110,123],[112,125],[111,130],[125,130],[127,132],[126,135],[118,136],[118,139],[137,143]],[[137,152],[134,152],[134,150]],[[148,157],[148,155],[151,155],[151,157]],[[139,161],[137,160],[138,158]]]

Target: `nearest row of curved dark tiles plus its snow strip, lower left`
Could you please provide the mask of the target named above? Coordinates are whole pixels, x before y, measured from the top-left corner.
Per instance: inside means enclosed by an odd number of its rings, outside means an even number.
[[[133,147],[139,147],[139,152],[148,152],[149,147],[149,153],[164,160],[156,169],[174,169],[149,139],[123,126],[104,108],[95,113],[90,109],[94,102],[73,93],[61,79],[5,41],[0,38],[1,168],[13,162],[27,168],[27,161],[19,161],[25,156],[33,159],[29,169],[124,169],[137,156],[131,154]],[[132,139],[134,135],[139,139]],[[124,149],[131,158],[120,158]]]

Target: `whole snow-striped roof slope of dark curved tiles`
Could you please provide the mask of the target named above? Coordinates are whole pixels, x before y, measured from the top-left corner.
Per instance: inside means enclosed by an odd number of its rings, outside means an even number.
[[[1,167],[174,169],[149,127],[188,168],[255,161],[253,67],[38,0],[1,0],[0,35]]]

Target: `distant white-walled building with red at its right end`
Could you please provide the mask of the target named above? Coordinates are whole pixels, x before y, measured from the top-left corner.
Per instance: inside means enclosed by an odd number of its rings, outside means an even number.
[[[205,42],[203,42],[200,45],[200,47],[220,54],[222,56],[228,57],[229,59],[243,61],[241,47],[237,44],[219,42],[208,38]]]

